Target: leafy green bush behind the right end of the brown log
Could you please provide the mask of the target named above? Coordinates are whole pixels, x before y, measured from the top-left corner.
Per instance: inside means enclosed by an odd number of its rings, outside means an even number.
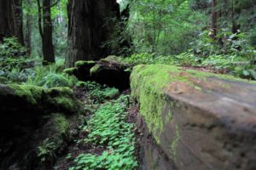
[[[255,80],[256,51],[247,42],[246,34],[223,30],[215,38],[210,35],[211,31],[204,31],[193,42],[194,54],[190,51],[189,55],[195,56],[195,60],[188,59],[190,65],[224,69],[232,75]]]

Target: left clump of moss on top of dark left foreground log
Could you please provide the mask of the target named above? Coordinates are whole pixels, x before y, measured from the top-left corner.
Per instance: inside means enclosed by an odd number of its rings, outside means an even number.
[[[9,88],[13,89],[15,94],[26,99],[32,105],[38,104],[42,97],[43,88],[37,86],[10,84]]]

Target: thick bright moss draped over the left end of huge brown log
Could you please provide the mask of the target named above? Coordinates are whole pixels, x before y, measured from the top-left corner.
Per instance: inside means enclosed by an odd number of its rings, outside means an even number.
[[[140,112],[148,124],[150,133],[154,134],[157,143],[164,128],[166,117],[162,117],[166,108],[164,88],[173,81],[188,82],[186,77],[171,77],[178,73],[175,66],[170,65],[137,65],[131,73],[131,93],[140,103]],[[172,112],[167,115],[167,121],[172,121]]]

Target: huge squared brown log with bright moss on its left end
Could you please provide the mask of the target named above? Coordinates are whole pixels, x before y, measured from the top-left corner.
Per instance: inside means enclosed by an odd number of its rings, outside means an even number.
[[[255,82],[137,65],[131,92],[140,108],[143,169],[256,168]]]

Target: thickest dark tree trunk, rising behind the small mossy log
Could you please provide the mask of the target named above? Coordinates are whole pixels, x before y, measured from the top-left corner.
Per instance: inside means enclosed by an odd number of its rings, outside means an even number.
[[[78,60],[96,60],[111,54],[111,49],[102,47],[113,31],[113,22],[118,17],[116,0],[69,0],[68,1],[68,54],[66,67]]]

